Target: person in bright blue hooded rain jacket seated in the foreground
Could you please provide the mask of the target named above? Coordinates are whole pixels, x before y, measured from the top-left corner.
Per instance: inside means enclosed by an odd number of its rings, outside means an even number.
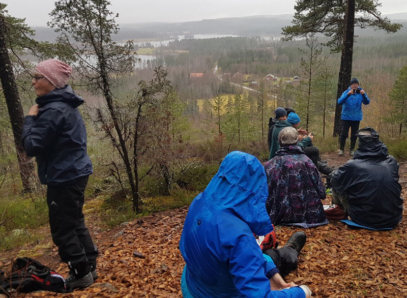
[[[189,207],[181,235],[185,260],[181,278],[185,298],[285,297],[308,298],[306,286],[286,283],[273,262],[283,266],[284,254],[264,255],[253,233],[273,230],[266,210],[266,172],[252,155],[234,151],[221,163],[205,191]],[[298,252],[305,244],[303,232],[287,242]],[[297,235],[296,235],[297,234]],[[272,283],[282,290],[271,290]]]

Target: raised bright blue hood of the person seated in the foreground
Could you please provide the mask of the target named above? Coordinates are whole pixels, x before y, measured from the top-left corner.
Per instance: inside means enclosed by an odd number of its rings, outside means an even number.
[[[201,199],[236,215],[253,233],[266,235],[272,231],[266,210],[268,194],[263,165],[250,154],[234,151],[225,157]]]

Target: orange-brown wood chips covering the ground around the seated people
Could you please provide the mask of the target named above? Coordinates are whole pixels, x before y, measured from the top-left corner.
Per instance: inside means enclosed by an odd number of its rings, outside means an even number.
[[[336,154],[327,157],[331,165],[346,161]],[[400,165],[400,181],[407,181],[407,164]],[[407,185],[402,187],[405,198]],[[328,204],[330,197],[323,202]],[[179,241],[187,212],[187,207],[165,211],[94,234],[100,250],[99,279],[91,287],[69,294],[37,292],[18,297],[181,297],[184,261]],[[276,230],[280,245],[284,245],[301,229],[283,226]],[[405,199],[403,221],[391,231],[351,229],[330,221],[305,232],[308,241],[298,269],[285,277],[287,281],[307,285],[315,297],[407,297]],[[55,248],[35,258],[67,274]],[[9,263],[10,259],[0,259],[0,266]]]

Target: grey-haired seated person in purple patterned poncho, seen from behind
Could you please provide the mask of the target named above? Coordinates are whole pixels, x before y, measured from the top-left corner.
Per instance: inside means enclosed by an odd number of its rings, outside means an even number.
[[[297,130],[284,128],[278,142],[280,150],[265,164],[271,222],[303,228],[327,224],[321,202],[326,196],[324,185],[313,162],[297,146]]]

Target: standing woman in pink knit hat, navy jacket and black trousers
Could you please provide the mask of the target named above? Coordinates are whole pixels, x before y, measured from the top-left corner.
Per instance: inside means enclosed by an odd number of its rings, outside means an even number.
[[[86,150],[85,124],[77,109],[83,99],[66,84],[71,71],[56,59],[36,66],[32,84],[37,104],[24,118],[22,142],[26,154],[36,157],[38,176],[47,185],[52,240],[69,266],[66,282],[71,288],[83,288],[97,278],[98,250],[82,213],[93,168]]]

